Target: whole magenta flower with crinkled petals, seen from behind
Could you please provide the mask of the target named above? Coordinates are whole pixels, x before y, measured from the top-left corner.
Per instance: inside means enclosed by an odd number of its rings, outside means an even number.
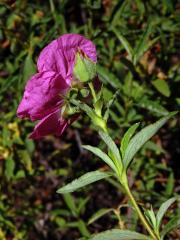
[[[71,88],[76,53],[96,62],[94,44],[78,34],[65,34],[48,44],[40,53],[38,73],[27,82],[17,109],[20,118],[40,120],[30,137],[38,139],[49,134],[60,136],[76,118],[64,119],[64,96]]]

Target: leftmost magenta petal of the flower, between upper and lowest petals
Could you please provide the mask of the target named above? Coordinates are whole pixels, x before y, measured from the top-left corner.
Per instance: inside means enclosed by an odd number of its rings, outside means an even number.
[[[52,71],[37,73],[27,82],[24,96],[17,109],[18,117],[39,120],[62,104],[69,86],[65,79]]]

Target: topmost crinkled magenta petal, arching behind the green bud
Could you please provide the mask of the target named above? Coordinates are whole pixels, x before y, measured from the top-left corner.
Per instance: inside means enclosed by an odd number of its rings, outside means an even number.
[[[42,50],[37,62],[38,71],[51,70],[67,80],[71,79],[77,51],[81,51],[93,62],[97,61],[96,47],[90,40],[79,34],[64,34]]]

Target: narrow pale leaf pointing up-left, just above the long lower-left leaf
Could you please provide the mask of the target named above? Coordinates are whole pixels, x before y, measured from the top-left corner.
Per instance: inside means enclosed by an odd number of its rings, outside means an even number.
[[[92,147],[90,145],[83,145],[82,147],[84,149],[87,149],[90,152],[94,153],[94,155],[96,155],[99,158],[101,158],[107,165],[109,165],[114,171],[116,171],[116,167],[115,167],[113,161],[110,159],[110,157],[107,154],[102,152],[99,148]]]

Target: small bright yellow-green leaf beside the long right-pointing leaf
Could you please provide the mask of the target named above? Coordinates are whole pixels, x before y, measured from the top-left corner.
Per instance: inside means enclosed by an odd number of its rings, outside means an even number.
[[[139,127],[139,123],[135,123],[124,134],[122,141],[121,141],[121,148],[120,148],[122,158],[124,157],[124,153],[126,151],[126,148],[129,144],[131,137],[134,135],[134,133],[138,127]]]

